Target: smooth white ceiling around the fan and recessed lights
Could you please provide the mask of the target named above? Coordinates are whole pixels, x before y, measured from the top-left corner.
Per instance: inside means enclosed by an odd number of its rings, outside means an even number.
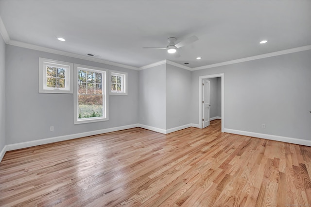
[[[134,67],[168,59],[195,68],[311,45],[311,0],[0,0],[0,17],[11,40]],[[199,40],[178,58],[142,49],[192,35]]]

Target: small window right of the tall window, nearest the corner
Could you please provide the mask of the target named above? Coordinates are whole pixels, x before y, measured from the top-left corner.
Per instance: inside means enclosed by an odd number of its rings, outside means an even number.
[[[127,95],[127,72],[110,70],[110,95]]]

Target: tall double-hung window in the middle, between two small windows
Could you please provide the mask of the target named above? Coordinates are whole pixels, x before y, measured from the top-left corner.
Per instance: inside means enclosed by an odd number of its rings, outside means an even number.
[[[74,124],[107,121],[106,69],[74,64]]]

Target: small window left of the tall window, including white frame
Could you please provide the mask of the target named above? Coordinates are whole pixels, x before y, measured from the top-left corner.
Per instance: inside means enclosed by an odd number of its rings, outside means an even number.
[[[73,93],[72,63],[39,58],[39,93]]]

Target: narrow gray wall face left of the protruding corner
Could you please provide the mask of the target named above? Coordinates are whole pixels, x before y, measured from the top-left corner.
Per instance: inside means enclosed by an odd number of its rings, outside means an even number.
[[[139,70],[139,123],[166,129],[165,64]]]

